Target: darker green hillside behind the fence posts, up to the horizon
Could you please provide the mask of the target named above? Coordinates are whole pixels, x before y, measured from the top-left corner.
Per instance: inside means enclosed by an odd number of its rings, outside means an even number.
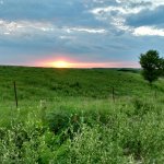
[[[44,69],[0,67],[0,98],[13,101],[13,81],[19,101],[54,99],[57,96],[108,98],[112,87],[116,96],[152,95],[139,72],[118,69]],[[164,91],[164,82],[155,84]],[[142,93],[141,93],[142,92]]]

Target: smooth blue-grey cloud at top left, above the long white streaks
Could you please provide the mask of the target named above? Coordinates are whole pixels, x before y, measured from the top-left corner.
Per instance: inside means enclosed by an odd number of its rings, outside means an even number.
[[[98,25],[86,12],[89,0],[5,0],[0,5],[0,17],[8,21],[49,21],[58,25]]]

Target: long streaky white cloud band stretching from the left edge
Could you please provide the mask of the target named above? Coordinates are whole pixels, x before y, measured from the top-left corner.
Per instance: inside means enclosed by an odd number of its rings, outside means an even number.
[[[66,40],[74,40],[78,33],[82,34],[105,34],[104,28],[56,26],[49,22],[36,21],[5,21],[0,20],[0,35],[9,37],[33,38],[38,36],[58,37]]]

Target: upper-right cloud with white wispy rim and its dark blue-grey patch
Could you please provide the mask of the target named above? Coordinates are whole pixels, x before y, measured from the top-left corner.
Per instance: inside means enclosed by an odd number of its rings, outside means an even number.
[[[117,0],[117,4],[94,8],[90,12],[108,24],[116,34],[131,33],[134,27],[164,25],[164,1]],[[121,32],[121,33],[120,33]]]

